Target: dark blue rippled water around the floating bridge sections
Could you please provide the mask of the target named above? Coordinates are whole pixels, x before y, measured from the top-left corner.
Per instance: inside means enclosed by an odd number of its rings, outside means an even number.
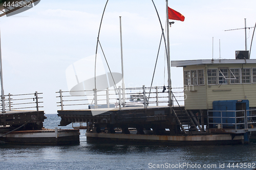
[[[56,114],[46,116],[46,128],[54,128],[60,122]],[[80,132],[80,145],[0,144],[0,169],[252,169],[245,168],[245,163],[256,163],[256,144],[210,147],[88,144],[86,131]],[[230,166],[234,163],[234,167],[227,167],[229,163]]]

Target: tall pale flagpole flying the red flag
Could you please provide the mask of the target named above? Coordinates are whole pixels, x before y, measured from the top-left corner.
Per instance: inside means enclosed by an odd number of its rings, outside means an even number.
[[[168,104],[172,107],[172,81],[170,80],[170,42],[169,42],[169,17],[168,0],[166,0],[166,37],[167,37],[167,72],[168,72]]]

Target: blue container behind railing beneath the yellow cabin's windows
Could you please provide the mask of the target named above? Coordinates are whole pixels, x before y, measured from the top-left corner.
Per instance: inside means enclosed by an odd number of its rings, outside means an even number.
[[[214,101],[212,102],[212,110],[216,111],[213,112],[213,122],[216,123],[214,124],[214,128],[218,125],[221,124],[221,112],[217,111],[224,111],[222,112],[222,123],[223,123],[223,128],[231,128],[234,127],[236,123],[236,119],[234,118],[235,115],[237,114],[237,117],[244,116],[244,112],[235,112],[236,110],[249,110],[249,101],[248,100],[230,100],[230,101]],[[229,110],[229,111],[227,111]],[[227,112],[225,112],[227,111]],[[249,116],[249,111],[246,111],[247,116]],[[231,118],[227,118],[231,117]],[[237,124],[238,123],[244,123],[245,119],[244,118],[237,118]],[[240,127],[243,127],[244,125],[237,125],[237,129],[240,129]]]

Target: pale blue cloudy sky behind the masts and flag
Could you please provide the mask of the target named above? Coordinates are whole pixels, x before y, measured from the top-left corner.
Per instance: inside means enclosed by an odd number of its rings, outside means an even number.
[[[56,91],[68,90],[66,69],[95,55],[98,29],[106,1],[42,0],[22,13],[0,17],[5,94],[42,92],[44,111],[57,113]],[[165,27],[165,1],[155,0]],[[180,0],[168,6],[185,16],[169,28],[170,59],[235,59],[245,50],[245,31],[254,27],[255,0]],[[126,87],[150,86],[161,38],[161,27],[150,0],[110,0],[99,40],[112,72],[121,72],[119,16],[122,16]],[[247,30],[250,48],[253,29]],[[212,37],[214,43],[212,44]],[[251,59],[256,58],[252,42]],[[212,51],[212,48],[214,49]],[[99,50],[102,56],[102,52]],[[214,54],[212,56],[212,54]],[[160,48],[154,86],[167,85],[164,46]],[[93,70],[92,70],[93,71]],[[172,86],[183,86],[182,68],[172,68]]]

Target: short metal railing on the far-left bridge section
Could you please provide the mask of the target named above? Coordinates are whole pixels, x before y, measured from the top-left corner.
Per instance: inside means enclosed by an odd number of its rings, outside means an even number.
[[[42,97],[39,97],[42,93],[28,93],[28,94],[7,94],[5,95],[5,111],[12,111],[12,110],[34,110],[39,111],[40,103]],[[3,110],[3,105],[1,102],[0,109]]]

